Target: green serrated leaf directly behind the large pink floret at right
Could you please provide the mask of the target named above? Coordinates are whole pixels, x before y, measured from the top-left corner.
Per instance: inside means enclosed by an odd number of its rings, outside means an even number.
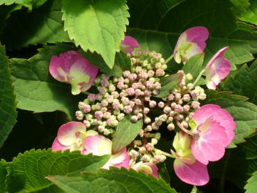
[[[230,92],[205,91],[207,98],[203,104],[215,104],[226,109],[236,123],[234,144],[244,142],[244,137],[253,134],[257,128],[257,106],[247,102],[247,98]]]

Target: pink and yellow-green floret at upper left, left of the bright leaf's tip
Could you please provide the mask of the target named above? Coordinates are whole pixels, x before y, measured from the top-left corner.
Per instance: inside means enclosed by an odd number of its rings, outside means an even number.
[[[77,95],[91,87],[98,68],[80,56],[79,52],[68,51],[52,56],[49,72],[59,82],[71,84],[72,94]]]

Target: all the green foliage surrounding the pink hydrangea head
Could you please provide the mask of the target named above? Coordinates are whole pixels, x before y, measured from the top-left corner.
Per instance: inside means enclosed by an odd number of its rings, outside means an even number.
[[[210,38],[204,59],[195,56],[183,70],[197,74],[218,49],[229,46],[226,57],[233,72],[217,92],[207,92],[203,104],[220,105],[237,123],[231,148],[220,162],[210,164],[210,183],[198,191],[256,192],[256,25],[255,0],[0,0],[0,158],[7,161],[0,162],[0,192],[81,192],[85,187],[104,192],[133,192],[131,187],[139,192],[147,188],[175,192],[164,180],[142,173],[95,171],[106,157],[43,150],[52,145],[61,124],[75,120],[77,103],[84,99],[72,96],[68,84],[56,82],[48,67],[52,55],[80,49],[102,72],[119,76],[130,68],[130,61],[119,52],[124,33],[167,58],[180,33],[191,26],[207,27]],[[169,72],[182,68],[173,62],[168,66]],[[122,141],[120,136],[114,146]],[[163,136],[160,146],[165,149],[171,137]],[[86,160],[85,164],[79,160]],[[166,167],[159,166],[160,177],[178,192],[190,192],[192,186],[178,180],[172,162],[168,159]],[[75,171],[84,170],[93,173],[76,176]],[[123,176],[130,184],[122,181]]]

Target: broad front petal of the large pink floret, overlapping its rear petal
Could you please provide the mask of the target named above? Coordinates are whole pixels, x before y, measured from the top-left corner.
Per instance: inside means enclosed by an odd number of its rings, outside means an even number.
[[[207,165],[209,161],[214,162],[224,156],[226,143],[227,137],[224,128],[219,123],[212,121],[199,139],[192,139],[192,154],[196,160]]]

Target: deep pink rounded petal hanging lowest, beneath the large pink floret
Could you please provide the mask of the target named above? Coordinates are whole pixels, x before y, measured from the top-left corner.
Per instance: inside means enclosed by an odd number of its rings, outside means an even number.
[[[207,166],[197,160],[194,164],[185,164],[176,159],[173,167],[178,178],[185,183],[191,185],[205,185],[209,182]]]

